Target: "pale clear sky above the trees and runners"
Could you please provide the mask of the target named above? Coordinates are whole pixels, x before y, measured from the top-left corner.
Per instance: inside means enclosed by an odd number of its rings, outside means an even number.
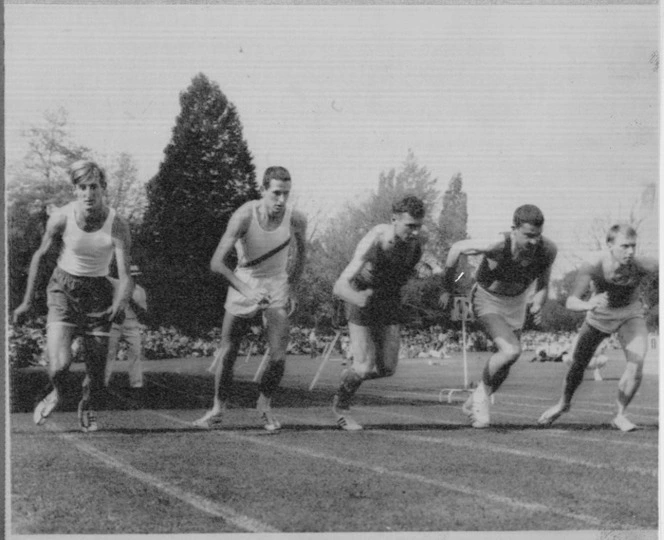
[[[534,203],[561,261],[658,181],[659,7],[5,5],[7,162],[65,107],[76,139],[158,170],[200,72],[236,105],[257,174],[333,214],[412,149],[456,172],[469,233]],[[657,220],[644,241],[655,244]]]

